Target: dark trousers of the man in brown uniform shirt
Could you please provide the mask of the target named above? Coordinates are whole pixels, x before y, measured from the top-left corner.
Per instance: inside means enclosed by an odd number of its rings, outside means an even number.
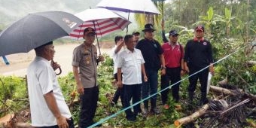
[[[84,95],[80,95],[81,112],[79,114],[79,127],[93,125],[99,99],[99,87],[84,88]]]

